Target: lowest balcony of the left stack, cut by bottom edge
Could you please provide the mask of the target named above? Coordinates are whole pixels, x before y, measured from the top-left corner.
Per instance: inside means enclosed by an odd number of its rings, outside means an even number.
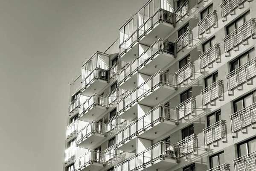
[[[104,153],[90,150],[75,160],[75,171],[99,171],[105,166]]]

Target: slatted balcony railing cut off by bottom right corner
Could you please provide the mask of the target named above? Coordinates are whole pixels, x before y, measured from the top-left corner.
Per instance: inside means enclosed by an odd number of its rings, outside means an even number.
[[[233,160],[235,171],[255,171],[256,151]]]

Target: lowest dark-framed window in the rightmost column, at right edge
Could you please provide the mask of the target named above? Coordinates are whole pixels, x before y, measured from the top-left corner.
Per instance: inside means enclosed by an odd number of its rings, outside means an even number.
[[[237,145],[238,157],[250,154],[256,151],[256,137],[249,139]]]

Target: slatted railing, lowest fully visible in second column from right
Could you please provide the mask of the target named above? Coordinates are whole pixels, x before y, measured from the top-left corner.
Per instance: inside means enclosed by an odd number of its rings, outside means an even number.
[[[215,141],[223,139],[225,136],[224,121],[220,120],[207,128],[204,128],[204,146],[213,144]]]

